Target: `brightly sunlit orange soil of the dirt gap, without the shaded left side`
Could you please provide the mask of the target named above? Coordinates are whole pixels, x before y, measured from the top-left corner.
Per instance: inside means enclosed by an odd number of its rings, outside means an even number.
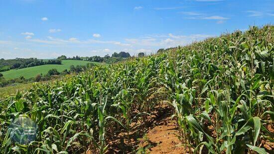
[[[186,154],[178,139],[176,121],[164,114],[147,131],[140,147],[150,154]]]

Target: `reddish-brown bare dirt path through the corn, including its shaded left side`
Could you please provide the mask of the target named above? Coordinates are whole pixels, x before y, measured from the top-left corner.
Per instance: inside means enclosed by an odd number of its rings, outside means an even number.
[[[171,120],[171,111],[166,104],[154,108],[145,123],[130,132],[130,141],[126,132],[109,141],[107,154],[187,154],[178,138],[176,120]]]

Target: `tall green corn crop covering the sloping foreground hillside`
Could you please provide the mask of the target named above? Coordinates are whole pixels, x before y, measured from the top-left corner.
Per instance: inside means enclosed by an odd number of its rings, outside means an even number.
[[[263,143],[274,143],[274,26],[34,83],[0,101],[0,153],[108,153],[110,141],[121,132],[133,138],[161,101],[172,107],[189,153],[273,153]],[[27,144],[11,137],[22,116],[36,123]]]

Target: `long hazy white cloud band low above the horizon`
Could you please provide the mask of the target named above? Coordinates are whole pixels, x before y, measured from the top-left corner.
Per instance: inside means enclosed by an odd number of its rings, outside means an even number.
[[[218,20],[216,20],[218,21]],[[30,35],[26,35],[30,36]],[[30,36],[31,37],[31,36]],[[33,36],[32,36],[33,37]],[[28,47],[31,47],[31,45],[40,46],[39,51],[33,51],[36,52],[35,54],[32,54],[30,52],[27,52],[24,49],[24,46],[19,46],[16,42],[11,42],[11,44],[7,44],[9,42],[6,41],[0,41],[0,46],[9,46],[9,49],[14,50],[1,50],[4,52],[11,52],[11,53],[18,53],[19,55],[11,55],[9,54],[9,57],[24,57],[28,54],[35,55],[35,57],[47,57],[52,58],[56,57],[52,54],[57,53],[60,55],[67,55],[67,56],[74,56],[76,54],[80,54],[80,56],[85,56],[86,54],[92,54],[92,55],[98,55],[98,56],[105,56],[106,54],[112,54],[113,52],[120,52],[125,51],[129,52],[132,56],[137,55],[140,52],[143,53],[155,53],[157,49],[159,48],[169,48],[169,47],[176,47],[178,45],[183,46],[192,43],[193,41],[200,41],[207,37],[212,37],[212,35],[204,35],[204,34],[193,34],[193,35],[178,35],[176,33],[167,33],[167,34],[153,34],[153,35],[145,35],[138,38],[128,38],[124,40],[119,41],[108,41],[108,40],[96,40],[96,39],[88,39],[88,40],[81,40],[77,37],[71,37],[67,39],[61,39],[61,38],[54,38],[51,36],[48,36],[44,39],[32,39],[27,38],[27,41],[24,41],[22,43],[25,43]],[[3,43],[3,45],[1,45]],[[19,49],[17,49],[17,48]],[[48,52],[48,47],[50,47],[51,50]],[[101,48],[104,47],[104,48]],[[54,48],[57,48],[54,51]],[[59,50],[59,48],[61,50]],[[64,48],[64,49],[62,49]],[[25,55],[21,54],[24,53]],[[43,55],[41,55],[41,53]],[[71,55],[70,55],[71,54]],[[3,58],[6,58],[8,56],[3,56]]]

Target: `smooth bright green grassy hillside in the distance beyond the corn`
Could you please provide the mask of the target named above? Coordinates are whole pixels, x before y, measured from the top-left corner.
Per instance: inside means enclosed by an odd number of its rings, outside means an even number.
[[[58,72],[62,72],[65,69],[69,70],[71,65],[86,65],[88,63],[93,63],[93,64],[100,64],[97,62],[88,62],[88,61],[77,61],[77,60],[63,60],[62,65],[41,65],[41,66],[35,66],[35,67],[30,67],[30,68],[23,68],[23,69],[18,69],[18,70],[9,70],[5,72],[1,72],[3,74],[3,77],[5,79],[12,79],[12,78],[17,78],[17,77],[24,77],[24,78],[30,78],[30,77],[35,77],[39,74],[47,74],[47,72],[50,69],[57,69]]]

